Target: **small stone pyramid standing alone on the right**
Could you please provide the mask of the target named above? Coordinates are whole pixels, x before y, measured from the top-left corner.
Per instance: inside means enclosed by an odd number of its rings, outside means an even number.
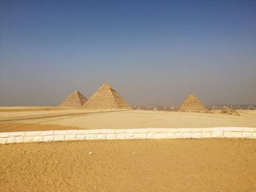
[[[190,94],[187,99],[178,107],[178,112],[210,112],[208,108],[195,96]]]

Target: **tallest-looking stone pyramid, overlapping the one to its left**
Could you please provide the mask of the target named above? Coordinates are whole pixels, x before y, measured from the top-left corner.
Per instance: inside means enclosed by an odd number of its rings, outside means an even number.
[[[83,104],[90,110],[131,110],[132,107],[127,104],[113,87],[105,82],[93,96]]]

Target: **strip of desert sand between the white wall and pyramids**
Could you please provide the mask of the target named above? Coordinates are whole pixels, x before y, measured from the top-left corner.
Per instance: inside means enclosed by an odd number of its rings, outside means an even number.
[[[2,111],[1,111],[2,110]],[[94,112],[81,108],[0,108],[0,131],[74,128],[200,128],[256,127],[256,111],[240,110],[240,116],[193,112],[143,110]],[[18,123],[15,126],[15,123]],[[22,123],[22,124],[20,124]]]

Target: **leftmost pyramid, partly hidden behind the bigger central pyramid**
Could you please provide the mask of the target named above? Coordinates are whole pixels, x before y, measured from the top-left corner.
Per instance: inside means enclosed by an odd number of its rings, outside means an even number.
[[[82,93],[74,91],[59,107],[81,107],[86,101],[87,99]]]

